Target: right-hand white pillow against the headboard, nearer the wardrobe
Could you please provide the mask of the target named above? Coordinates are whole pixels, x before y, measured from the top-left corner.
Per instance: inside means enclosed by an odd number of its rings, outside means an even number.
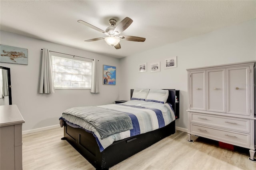
[[[156,102],[165,104],[169,96],[169,90],[150,89],[146,102]]]

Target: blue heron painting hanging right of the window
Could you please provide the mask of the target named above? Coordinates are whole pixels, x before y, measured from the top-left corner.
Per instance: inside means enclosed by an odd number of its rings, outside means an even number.
[[[116,85],[116,67],[103,65],[103,84]]]

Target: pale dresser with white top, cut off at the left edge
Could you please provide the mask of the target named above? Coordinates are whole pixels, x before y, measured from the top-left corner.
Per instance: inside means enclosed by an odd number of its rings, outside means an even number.
[[[16,105],[0,106],[0,170],[22,170],[22,124]]]

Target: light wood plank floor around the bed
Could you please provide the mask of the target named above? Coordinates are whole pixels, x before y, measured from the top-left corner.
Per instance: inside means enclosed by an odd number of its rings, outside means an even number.
[[[63,137],[63,128],[22,136],[23,170],[95,170]],[[256,170],[248,149],[223,149],[218,142],[176,131],[110,170]]]

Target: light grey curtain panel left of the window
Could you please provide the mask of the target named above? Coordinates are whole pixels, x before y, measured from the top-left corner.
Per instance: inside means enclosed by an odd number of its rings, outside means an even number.
[[[54,93],[50,51],[43,49],[39,93]]]

